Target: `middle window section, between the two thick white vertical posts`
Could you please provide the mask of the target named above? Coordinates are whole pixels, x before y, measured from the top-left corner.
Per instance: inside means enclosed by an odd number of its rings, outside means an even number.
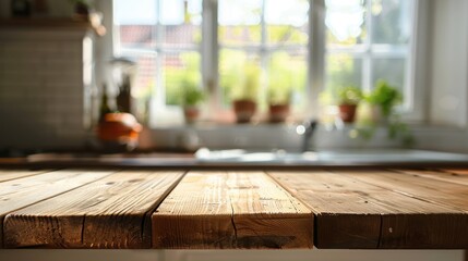
[[[223,104],[245,96],[279,103],[305,103],[308,0],[219,0],[219,86]],[[259,73],[259,89],[240,88],[243,75]]]

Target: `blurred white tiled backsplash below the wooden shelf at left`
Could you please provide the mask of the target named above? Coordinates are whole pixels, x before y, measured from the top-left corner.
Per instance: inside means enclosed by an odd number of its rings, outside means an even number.
[[[0,149],[83,145],[92,48],[82,29],[0,32]]]

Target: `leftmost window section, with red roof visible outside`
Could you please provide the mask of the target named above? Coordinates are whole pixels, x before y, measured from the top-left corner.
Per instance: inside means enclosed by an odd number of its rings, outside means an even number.
[[[115,0],[115,50],[137,63],[132,96],[140,117],[159,111],[153,124],[180,122],[171,109],[181,88],[201,84],[201,25],[202,0]]]

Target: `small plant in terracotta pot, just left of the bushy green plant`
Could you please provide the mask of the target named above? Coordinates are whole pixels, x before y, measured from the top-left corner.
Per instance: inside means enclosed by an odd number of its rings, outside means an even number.
[[[355,122],[356,109],[362,100],[362,90],[355,86],[346,86],[338,90],[339,117],[345,123]]]

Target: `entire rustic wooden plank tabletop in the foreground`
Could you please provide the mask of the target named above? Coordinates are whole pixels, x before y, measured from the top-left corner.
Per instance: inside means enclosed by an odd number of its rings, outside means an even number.
[[[468,170],[0,170],[0,248],[468,249]]]

